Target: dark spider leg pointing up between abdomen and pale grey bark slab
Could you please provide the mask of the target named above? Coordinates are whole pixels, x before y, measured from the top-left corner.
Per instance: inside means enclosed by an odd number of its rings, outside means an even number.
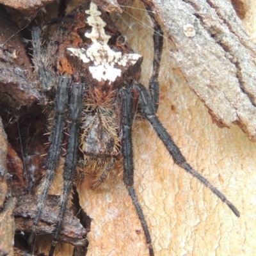
[[[163,31],[161,26],[158,24],[157,20],[154,17],[154,11],[150,7],[150,5],[143,1],[150,20],[153,24],[154,35],[153,35],[153,42],[154,42],[154,60],[153,60],[153,70],[152,75],[150,77],[150,81],[148,84],[148,89],[151,95],[151,99],[153,102],[153,106],[157,112],[157,108],[159,105],[159,82],[158,82],[158,74],[160,68],[160,62],[162,58],[162,51],[163,51]]]

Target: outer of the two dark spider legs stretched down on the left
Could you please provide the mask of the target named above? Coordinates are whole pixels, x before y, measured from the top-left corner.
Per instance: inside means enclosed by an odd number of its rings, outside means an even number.
[[[49,188],[52,184],[52,180],[54,178],[54,172],[58,165],[58,161],[60,159],[60,149],[61,143],[63,139],[63,129],[65,125],[65,109],[68,103],[68,86],[70,84],[70,79],[68,77],[60,77],[57,93],[55,97],[55,106],[56,113],[54,116],[54,125],[52,129],[52,141],[49,148],[49,154],[46,164],[46,175],[45,175],[45,186],[42,192],[42,195],[39,196],[38,199],[38,211],[33,220],[32,232],[29,236],[29,244],[31,248],[33,248],[33,244],[36,236],[36,226],[38,225],[38,221],[42,214],[43,207],[45,205],[45,200],[47,198],[47,194]]]

